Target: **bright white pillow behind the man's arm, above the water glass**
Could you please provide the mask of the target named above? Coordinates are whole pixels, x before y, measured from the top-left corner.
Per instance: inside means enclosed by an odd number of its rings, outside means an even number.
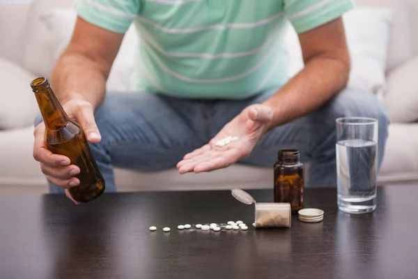
[[[387,45],[392,13],[387,8],[354,8],[343,15],[352,61],[348,86],[382,95],[385,91]],[[303,67],[302,52],[293,29],[286,33],[291,73]]]

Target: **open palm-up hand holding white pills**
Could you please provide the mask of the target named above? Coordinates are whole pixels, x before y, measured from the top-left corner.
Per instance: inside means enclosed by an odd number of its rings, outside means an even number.
[[[250,105],[227,123],[208,144],[188,153],[178,163],[178,172],[210,172],[247,158],[258,140],[270,128],[272,119],[271,107]],[[228,136],[238,137],[238,140],[222,147],[216,145],[219,140]]]

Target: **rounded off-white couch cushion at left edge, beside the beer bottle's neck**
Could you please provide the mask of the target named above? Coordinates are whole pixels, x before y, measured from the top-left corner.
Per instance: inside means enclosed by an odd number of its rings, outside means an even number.
[[[30,82],[35,76],[0,57],[0,130],[29,126],[39,112]]]

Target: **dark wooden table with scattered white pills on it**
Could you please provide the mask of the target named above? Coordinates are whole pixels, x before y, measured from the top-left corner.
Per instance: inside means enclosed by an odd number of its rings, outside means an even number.
[[[249,191],[270,202],[271,191]],[[378,188],[375,213],[337,211],[334,189],[307,189],[323,223],[254,229],[229,191],[0,197],[0,278],[418,278],[418,186]],[[243,220],[247,231],[178,231]],[[148,227],[157,226],[157,232]],[[171,232],[162,232],[162,227]]]

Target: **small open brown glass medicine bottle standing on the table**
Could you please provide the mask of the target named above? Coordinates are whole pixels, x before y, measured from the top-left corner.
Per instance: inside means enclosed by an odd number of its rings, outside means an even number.
[[[300,153],[295,149],[279,151],[274,164],[274,202],[288,202],[292,213],[304,208],[303,204],[303,164]]]

